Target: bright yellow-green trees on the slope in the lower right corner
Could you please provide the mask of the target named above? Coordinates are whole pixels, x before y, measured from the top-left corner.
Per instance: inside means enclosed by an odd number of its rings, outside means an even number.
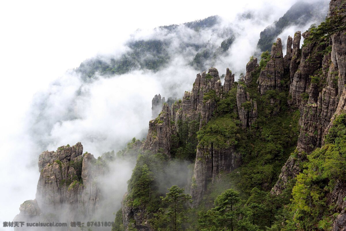
[[[325,142],[308,155],[297,176],[285,226],[307,231],[331,229],[334,212],[333,206],[327,206],[327,195],[337,182],[346,180],[346,114],[336,117]]]

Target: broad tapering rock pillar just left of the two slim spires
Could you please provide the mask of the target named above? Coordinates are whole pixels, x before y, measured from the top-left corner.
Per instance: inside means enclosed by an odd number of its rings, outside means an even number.
[[[261,70],[258,78],[258,91],[263,95],[268,90],[284,90],[283,80],[284,62],[282,54],[281,38],[273,43],[271,57],[266,67]]]

